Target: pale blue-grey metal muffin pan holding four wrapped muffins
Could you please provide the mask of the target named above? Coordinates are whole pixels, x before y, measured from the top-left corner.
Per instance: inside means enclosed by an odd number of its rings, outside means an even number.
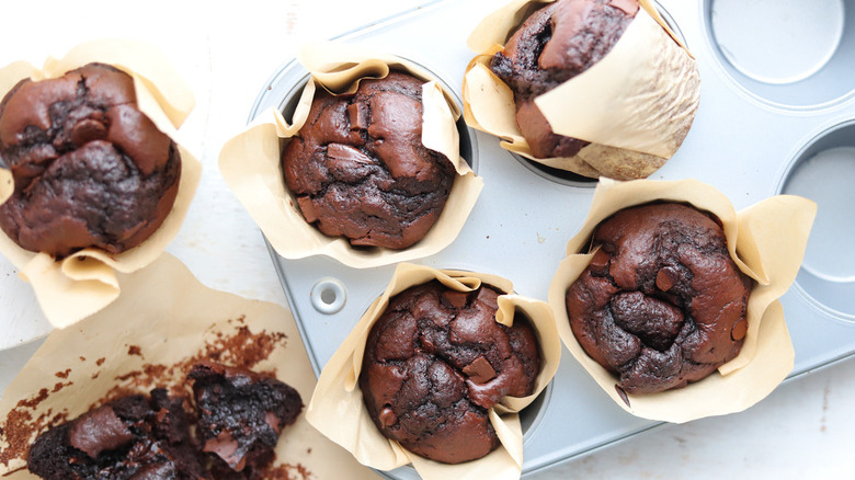
[[[682,148],[651,179],[699,179],[737,209],[778,193],[819,204],[803,266],[782,298],[796,348],[789,381],[855,355],[855,0],[777,2],[778,10],[790,9],[786,14],[740,8],[744,3],[659,2],[697,58],[702,96]],[[466,37],[494,8],[486,0],[433,2],[339,39],[414,60],[459,96],[472,57]],[[795,30],[787,24],[794,15],[802,20]],[[779,36],[785,27],[790,36],[825,32],[825,37],[798,52],[791,43],[756,41]],[[790,64],[776,70],[780,61]],[[286,64],[262,89],[250,118],[270,106],[286,111],[306,80],[296,61]],[[595,182],[533,165],[502,150],[497,138],[459,127],[463,152],[485,188],[455,242],[418,262],[498,274],[518,294],[546,300]],[[326,256],[286,260],[272,249],[271,254],[319,374],[395,266],[355,270]],[[565,352],[550,388],[523,412],[523,425],[527,475],[663,424],[614,404]],[[410,467],[383,475],[418,478]]]

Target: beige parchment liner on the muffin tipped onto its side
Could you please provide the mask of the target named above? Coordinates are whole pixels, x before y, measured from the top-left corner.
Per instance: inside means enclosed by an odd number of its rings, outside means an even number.
[[[572,158],[535,158],[516,126],[513,92],[490,59],[510,33],[554,0],[515,0],[485,18],[469,36],[476,56],[464,76],[464,117],[502,139],[502,148],[548,167],[617,180],[641,179],[662,167],[688,134],[700,100],[692,55],[648,0],[600,61],[535,99],[559,135],[590,141]],[[675,42],[676,41],[676,42]]]

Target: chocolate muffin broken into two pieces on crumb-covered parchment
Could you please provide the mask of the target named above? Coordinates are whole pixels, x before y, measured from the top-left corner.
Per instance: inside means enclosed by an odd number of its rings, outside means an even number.
[[[166,389],[122,397],[41,434],[27,468],[48,480],[267,478],[280,433],[303,410],[299,393],[214,363],[194,365],[187,378],[195,414]]]

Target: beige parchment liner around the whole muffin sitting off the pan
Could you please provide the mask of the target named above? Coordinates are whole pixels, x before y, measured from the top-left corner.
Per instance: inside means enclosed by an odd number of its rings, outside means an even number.
[[[42,69],[18,61],[0,69],[0,98],[20,80],[57,78],[86,64],[110,64],[134,78],[139,110],[174,140],[194,106],[193,93],[166,57],[156,48],[124,39],[80,44],[62,59],[48,58]],[[178,142],[176,142],[178,144]],[[185,148],[181,152],[181,180],[172,210],[158,230],[138,247],[113,255],[84,249],[61,261],[19,247],[0,232],[0,253],[19,275],[33,285],[45,317],[56,328],[68,327],[114,301],[119,295],[116,272],[130,273],[150,264],[175,238],[186,216],[202,174],[202,164]],[[11,173],[0,169],[0,199],[12,194]]]

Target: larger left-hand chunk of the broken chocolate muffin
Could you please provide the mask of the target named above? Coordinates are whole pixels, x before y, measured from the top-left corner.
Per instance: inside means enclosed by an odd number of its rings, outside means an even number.
[[[163,389],[113,400],[39,435],[27,468],[49,480],[212,479],[182,403]]]

